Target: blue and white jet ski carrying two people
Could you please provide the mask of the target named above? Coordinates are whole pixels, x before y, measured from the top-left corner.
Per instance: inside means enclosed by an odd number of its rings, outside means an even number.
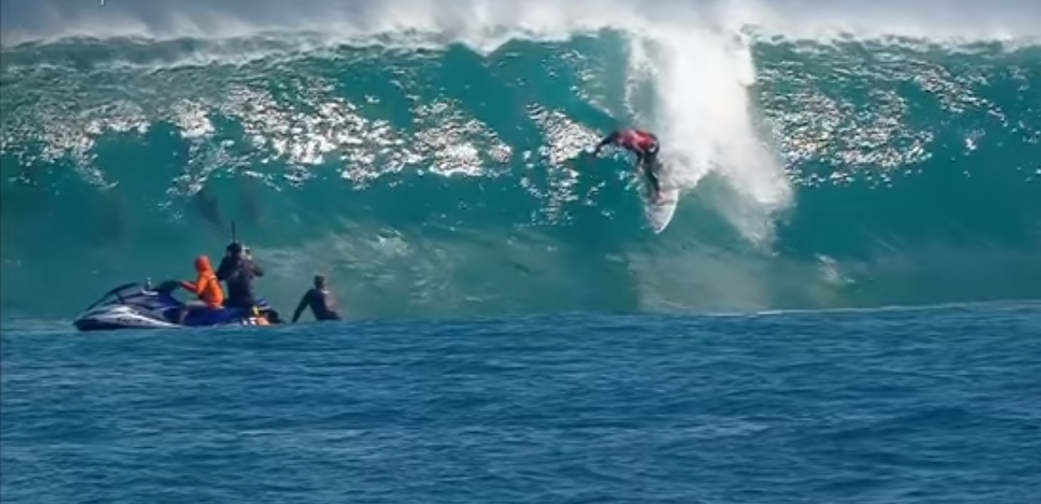
[[[221,308],[214,310],[193,310],[178,323],[178,316],[184,303],[174,297],[179,287],[176,280],[168,280],[153,288],[151,282],[145,284],[130,282],[104,294],[74,322],[80,331],[105,331],[113,329],[173,329],[178,327],[209,327],[222,325],[266,325],[280,323],[278,312],[263,299],[257,300],[255,310],[244,308]],[[260,320],[260,319],[265,319]]]

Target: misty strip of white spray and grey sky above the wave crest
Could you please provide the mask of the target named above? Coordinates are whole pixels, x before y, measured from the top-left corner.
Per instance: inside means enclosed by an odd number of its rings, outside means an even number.
[[[18,1],[18,0],[11,0]],[[46,0],[33,0],[46,4]],[[754,27],[794,39],[906,36],[932,41],[1041,39],[1041,2],[1009,0],[208,0],[49,4],[39,19],[5,12],[5,45],[65,36],[222,39],[271,31],[364,35],[436,32],[463,42],[562,35],[634,24]]]

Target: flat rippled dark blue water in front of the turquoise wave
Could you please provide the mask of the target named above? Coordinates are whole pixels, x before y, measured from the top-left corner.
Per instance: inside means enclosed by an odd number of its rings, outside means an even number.
[[[1025,504],[1041,305],[2,339],[5,503]]]

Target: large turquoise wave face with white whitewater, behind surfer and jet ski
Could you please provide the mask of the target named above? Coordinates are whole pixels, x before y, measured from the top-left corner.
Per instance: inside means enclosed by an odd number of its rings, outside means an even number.
[[[675,36],[7,46],[3,308],[189,276],[232,221],[263,295],[326,272],[359,318],[1041,295],[1039,46]],[[684,187],[661,235],[578,158],[629,124]]]

